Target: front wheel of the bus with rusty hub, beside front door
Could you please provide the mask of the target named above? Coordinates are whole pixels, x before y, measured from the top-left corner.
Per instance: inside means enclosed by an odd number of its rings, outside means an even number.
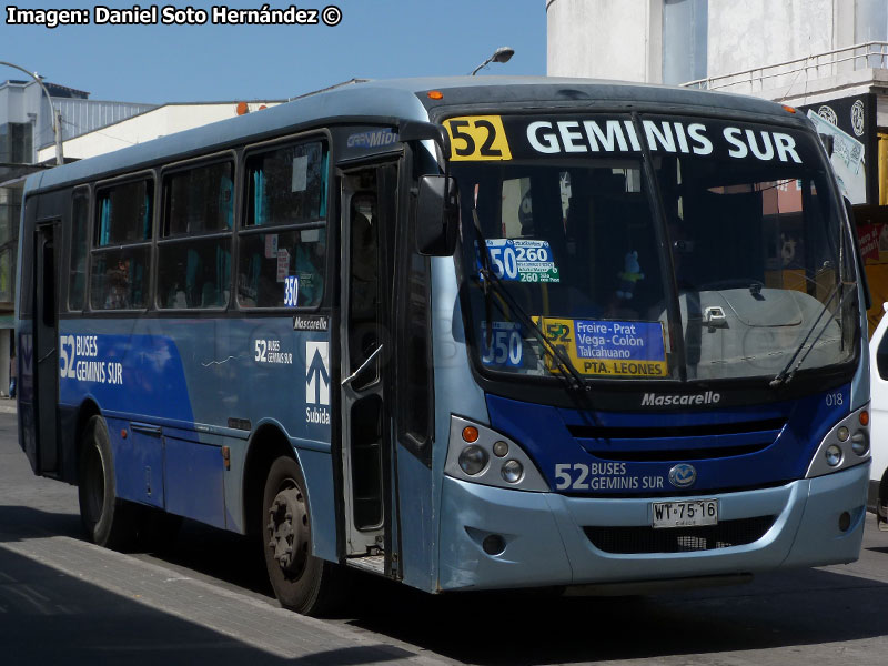
[[[312,555],[305,480],[289,456],[269,468],[261,519],[265,567],[281,605],[313,616],[335,610],[347,592],[346,572]]]

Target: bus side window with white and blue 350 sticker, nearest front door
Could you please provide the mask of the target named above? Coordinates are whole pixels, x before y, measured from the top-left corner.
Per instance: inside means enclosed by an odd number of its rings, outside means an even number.
[[[241,307],[315,307],[324,293],[327,150],[321,141],[246,159]]]

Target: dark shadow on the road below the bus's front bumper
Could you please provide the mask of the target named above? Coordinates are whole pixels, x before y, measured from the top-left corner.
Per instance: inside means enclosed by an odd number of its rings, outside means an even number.
[[[888,585],[806,569],[650,597],[465,593],[432,597],[385,582],[349,624],[480,665],[532,666],[840,643],[886,634]],[[874,648],[875,649],[875,648]]]

